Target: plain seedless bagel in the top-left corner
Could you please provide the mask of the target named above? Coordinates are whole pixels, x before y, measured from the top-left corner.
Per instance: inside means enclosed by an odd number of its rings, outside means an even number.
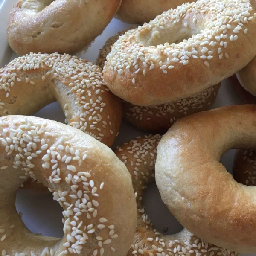
[[[121,0],[19,0],[12,9],[7,39],[18,55],[74,53],[100,35]]]

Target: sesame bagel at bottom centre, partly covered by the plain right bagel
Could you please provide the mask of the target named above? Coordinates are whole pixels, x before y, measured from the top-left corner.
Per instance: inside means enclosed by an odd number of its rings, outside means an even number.
[[[235,256],[237,253],[209,244],[186,229],[174,235],[157,231],[143,206],[143,192],[154,181],[159,134],[137,137],[116,148],[117,157],[129,170],[134,191],[137,193],[137,232],[127,256]]]

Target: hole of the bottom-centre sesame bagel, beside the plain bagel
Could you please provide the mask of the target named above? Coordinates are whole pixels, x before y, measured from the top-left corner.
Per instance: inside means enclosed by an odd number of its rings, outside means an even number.
[[[154,227],[164,235],[173,235],[181,230],[183,226],[172,215],[161,200],[160,193],[155,182],[148,185],[144,191],[143,204],[145,212]]]

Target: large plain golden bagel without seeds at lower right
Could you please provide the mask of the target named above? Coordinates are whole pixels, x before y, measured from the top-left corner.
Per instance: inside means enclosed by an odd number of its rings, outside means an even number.
[[[234,105],[177,121],[157,148],[156,183],[180,223],[210,243],[255,252],[254,190],[219,162],[230,148],[256,146],[256,105]]]

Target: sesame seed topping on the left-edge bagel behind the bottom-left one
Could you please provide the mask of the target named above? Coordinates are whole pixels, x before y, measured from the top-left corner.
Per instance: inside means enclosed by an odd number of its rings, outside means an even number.
[[[61,99],[61,104],[67,101],[63,109],[69,125],[90,134],[99,141],[105,142],[109,137],[114,140],[113,133],[116,133],[118,128],[113,132],[110,121],[115,122],[116,119],[114,116],[111,116],[111,120],[107,118],[112,111],[110,109],[113,108],[107,103],[115,98],[105,86],[102,69],[94,63],[68,54],[30,53],[14,59],[2,68],[0,91],[3,90],[5,97],[1,96],[0,99],[0,116],[15,114],[12,109],[5,109],[8,98],[11,99],[13,96],[14,86],[17,87],[24,82],[38,86],[41,80],[51,84],[49,93],[52,93],[53,97],[57,91],[58,97],[64,98]],[[58,84],[59,81],[61,86]],[[28,90],[29,88],[28,86]],[[67,97],[67,94],[70,97]],[[9,106],[12,108],[12,105]],[[47,145],[44,145],[43,150],[46,147]]]

